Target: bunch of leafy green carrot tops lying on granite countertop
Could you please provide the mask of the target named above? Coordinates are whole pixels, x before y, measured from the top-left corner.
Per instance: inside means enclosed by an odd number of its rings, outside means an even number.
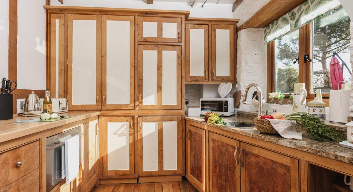
[[[312,140],[320,142],[341,142],[346,139],[346,135],[343,132],[332,127],[327,127],[319,119],[309,113],[293,113],[287,115],[286,119],[301,122],[301,124],[306,127],[306,132]]]

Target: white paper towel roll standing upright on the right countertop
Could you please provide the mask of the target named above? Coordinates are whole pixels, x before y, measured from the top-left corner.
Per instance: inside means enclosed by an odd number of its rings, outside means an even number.
[[[330,91],[330,112],[331,122],[347,123],[349,115],[349,96],[352,90],[331,90]]]

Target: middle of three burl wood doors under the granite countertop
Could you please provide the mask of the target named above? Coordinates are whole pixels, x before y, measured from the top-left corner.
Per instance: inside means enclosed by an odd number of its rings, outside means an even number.
[[[210,192],[240,192],[239,141],[209,133]]]

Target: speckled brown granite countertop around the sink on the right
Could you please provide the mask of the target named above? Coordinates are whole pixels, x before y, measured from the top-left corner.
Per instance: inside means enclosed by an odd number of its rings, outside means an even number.
[[[238,111],[239,114],[239,111]],[[239,123],[248,123],[254,124],[253,115],[244,115],[239,114],[240,116],[222,116],[223,121],[225,122],[239,122]],[[204,121],[204,116],[185,116],[185,120],[207,124]],[[303,140],[295,140],[295,139],[285,139],[280,135],[270,135],[260,133],[256,127],[232,127],[225,125],[214,125],[213,127],[217,127],[223,130],[227,130],[229,132],[246,135],[249,137],[253,137],[259,140],[268,141],[271,143],[275,143],[278,145],[298,149],[300,151],[324,156],[330,159],[339,160],[342,162],[346,162],[349,164],[353,164],[353,149],[349,149],[346,147],[340,146],[339,143],[336,142],[318,142],[311,140],[305,132],[303,132]],[[297,130],[298,131],[298,130]]]

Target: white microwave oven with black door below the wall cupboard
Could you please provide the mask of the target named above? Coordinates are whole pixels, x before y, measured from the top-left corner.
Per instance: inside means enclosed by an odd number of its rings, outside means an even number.
[[[200,115],[204,115],[207,111],[210,110],[223,116],[234,115],[234,98],[200,99]]]

